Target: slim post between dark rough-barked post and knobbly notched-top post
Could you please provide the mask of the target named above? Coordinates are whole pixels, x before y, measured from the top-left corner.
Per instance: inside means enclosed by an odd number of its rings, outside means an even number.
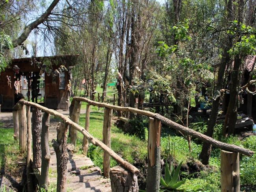
[[[49,147],[49,124],[50,114],[44,113],[42,119],[41,149],[42,149],[42,168],[40,176],[39,190],[48,188],[48,170],[50,163],[50,147]]]

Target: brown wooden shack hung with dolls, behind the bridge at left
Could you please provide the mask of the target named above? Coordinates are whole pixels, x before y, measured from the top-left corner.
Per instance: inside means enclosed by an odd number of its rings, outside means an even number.
[[[12,59],[8,68],[0,74],[1,109],[13,108],[15,96],[17,97],[17,93],[22,93],[24,83],[27,83],[28,87],[27,94],[23,93],[24,97],[37,102],[39,83],[43,83],[44,96],[40,104],[50,109],[68,110],[71,68],[75,65],[77,57],[78,55],[56,55]],[[39,82],[42,74],[44,74],[43,81]]]

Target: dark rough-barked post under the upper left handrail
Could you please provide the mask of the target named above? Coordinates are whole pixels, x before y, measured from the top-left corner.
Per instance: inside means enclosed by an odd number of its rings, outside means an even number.
[[[41,167],[41,131],[42,131],[42,113],[41,110],[32,107],[32,140],[33,140],[33,164],[32,168]]]

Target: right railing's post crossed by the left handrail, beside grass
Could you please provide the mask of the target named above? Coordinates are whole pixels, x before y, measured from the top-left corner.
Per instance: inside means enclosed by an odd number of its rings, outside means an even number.
[[[104,120],[103,120],[103,140],[102,142],[106,144],[109,148],[111,148],[111,135],[110,135],[110,127],[111,127],[111,120],[112,120],[112,113],[113,109],[106,108],[104,109]],[[103,170],[104,170],[104,177],[109,178],[110,172],[110,155],[104,151],[103,156]]]

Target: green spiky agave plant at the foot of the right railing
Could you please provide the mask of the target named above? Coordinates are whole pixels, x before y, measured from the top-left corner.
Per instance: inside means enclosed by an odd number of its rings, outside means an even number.
[[[169,190],[173,191],[178,187],[180,187],[182,184],[184,184],[188,177],[191,177],[194,174],[198,174],[198,172],[190,174],[184,179],[182,179],[182,181],[180,181],[179,174],[180,174],[180,168],[182,166],[182,162],[183,161],[180,161],[177,168],[175,169],[173,163],[171,164],[171,168],[169,168],[168,163],[165,160],[165,178],[163,178],[162,175],[160,177],[160,184],[162,186],[161,188],[164,188],[167,191]]]

